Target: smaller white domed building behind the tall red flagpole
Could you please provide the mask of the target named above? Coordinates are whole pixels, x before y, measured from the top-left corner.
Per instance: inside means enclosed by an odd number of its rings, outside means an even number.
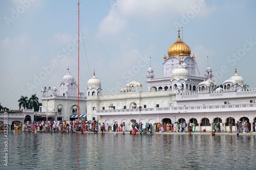
[[[54,119],[57,117],[57,119],[68,120],[72,115],[77,114],[77,84],[69,70],[67,75],[63,76],[62,80],[60,81],[59,87],[59,94],[57,94],[57,88],[55,86],[52,88],[52,92],[49,91],[48,93],[42,89],[42,106],[40,106],[39,112],[36,113],[37,115],[46,116],[46,113],[48,113],[48,117],[54,117]],[[84,99],[84,92],[79,91],[80,115],[86,114],[86,101]]]

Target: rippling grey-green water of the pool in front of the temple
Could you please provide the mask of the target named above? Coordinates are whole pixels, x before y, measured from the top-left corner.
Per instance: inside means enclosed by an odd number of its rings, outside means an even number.
[[[3,133],[0,142],[3,143]],[[9,132],[0,169],[255,169],[254,135]]]

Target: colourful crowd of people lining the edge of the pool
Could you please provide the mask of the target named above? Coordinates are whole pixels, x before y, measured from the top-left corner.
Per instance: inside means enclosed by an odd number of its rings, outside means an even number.
[[[213,130],[215,132],[221,132],[221,126],[219,123],[214,123],[213,124]],[[237,121],[236,123],[236,131],[237,133],[248,133],[249,129],[249,124],[247,121],[244,123],[241,121]],[[256,121],[254,123],[254,127],[256,129]],[[140,133],[146,133],[146,132],[185,132],[186,128],[189,133],[195,132],[196,131],[196,124],[193,122],[189,122],[186,124],[185,122],[175,122],[174,124],[172,123],[154,123],[153,125],[151,123],[132,123],[131,127],[128,128],[125,126],[125,123],[121,124],[114,124],[113,128],[111,125],[108,123],[100,124],[98,120],[48,120],[48,123],[44,120],[40,121],[35,121],[35,122],[30,122],[27,121],[25,123],[20,123],[20,124],[12,124],[8,125],[8,130],[15,130],[15,131],[37,131],[39,128],[39,131],[61,131],[61,132],[75,132],[75,131],[80,131],[80,132],[94,132],[97,133],[98,131],[101,131],[103,133],[104,131],[114,131],[114,132],[125,132],[129,131],[136,133],[140,131]],[[229,122],[229,132],[232,133],[232,128],[233,128],[233,122]]]

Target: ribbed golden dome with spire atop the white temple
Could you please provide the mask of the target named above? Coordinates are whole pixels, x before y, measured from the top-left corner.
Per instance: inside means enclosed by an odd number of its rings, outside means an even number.
[[[169,46],[168,56],[177,57],[177,56],[190,56],[191,50],[190,47],[182,42],[180,39],[180,28],[178,29],[178,39],[175,43]]]

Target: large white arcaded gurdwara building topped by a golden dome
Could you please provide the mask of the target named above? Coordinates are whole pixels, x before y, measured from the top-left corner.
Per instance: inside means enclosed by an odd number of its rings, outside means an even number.
[[[179,30],[178,30],[179,32]],[[235,74],[217,88],[212,81],[212,70],[208,66],[201,75],[196,57],[190,57],[190,47],[182,42],[180,35],[168,48],[168,57],[163,57],[164,75],[155,77],[153,68],[147,69],[147,92],[142,92],[142,84],[130,82],[118,94],[102,94],[101,83],[87,88],[88,119],[113,125],[125,122],[174,123],[195,122],[198,130],[211,130],[214,123],[220,122],[222,130],[229,130],[237,120],[255,122],[256,90],[244,90],[243,78]],[[97,80],[97,81],[96,81]],[[89,81],[88,81],[89,82]],[[90,87],[89,87],[90,86]],[[141,107],[141,111],[139,111]]]

